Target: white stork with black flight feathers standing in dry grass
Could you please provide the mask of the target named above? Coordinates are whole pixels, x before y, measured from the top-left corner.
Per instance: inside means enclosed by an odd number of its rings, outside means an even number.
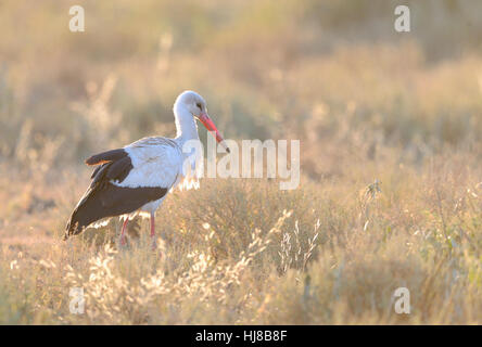
[[[229,152],[223,137],[207,115],[206,102],[193,92],[185,91],[174,103],[177,136],[175,139],[151,137],[138,140],[123,149],[92,155],[86,164],[98,166],[92,182],[78,202],[67,222],[64,240],[99,224],[105,218],[124,219],[120,244],[125,245],[125,231],[129,219],[136,215],[151,218],[152,247],[155,248],[154,215],[166,194],[183,180],[192,179],[183,172],[183,162],[189,153],[182,145],[199,140],[198,118],[216,141]]]

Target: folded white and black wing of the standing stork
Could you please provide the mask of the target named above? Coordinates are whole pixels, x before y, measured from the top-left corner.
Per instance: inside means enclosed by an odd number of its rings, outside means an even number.
[[[71,215],[64,239],[103,218],[134,213],[164,197],[177,178],[180,159],[176,151],[172,146],[137,145],[89,157],[86,164],[98,167]]]

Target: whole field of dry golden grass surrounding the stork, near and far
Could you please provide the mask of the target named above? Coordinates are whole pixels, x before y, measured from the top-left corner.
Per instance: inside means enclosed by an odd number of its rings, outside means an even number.
[[[2,1],[0,323],[481,324],[482,2],[405,3],[399,34],[397,1],[76,1],[74,34]],[[141,219],[63,242],[84,158],[175,136],[186,89],[225,138],[300,139],[300,188],[176,191],[156,252]]]

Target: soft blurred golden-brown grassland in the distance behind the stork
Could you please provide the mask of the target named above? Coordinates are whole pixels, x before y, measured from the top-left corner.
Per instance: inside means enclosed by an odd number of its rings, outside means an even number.
[[[68,29],[75,4],[85,33]],[[410,33],[394,30],[398,4],[3,0],[0,162],[47,174],[173,137],[186,89],[205,97],[226,138],[301,139],[309,178],[344,160],[480,158],[482,2],[403,1]]]

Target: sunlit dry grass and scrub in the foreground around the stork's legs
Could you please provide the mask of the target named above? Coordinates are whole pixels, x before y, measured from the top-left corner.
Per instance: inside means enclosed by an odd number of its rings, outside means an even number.
[[[126,249],[115,222],[60,241],[72,183],[56,182],[63,197],[46,207],[41,191],[13,181],[25,192],[2,217],[2,322],[479,324],[481,171],[457,160],[422,176],[386,168],[376,193],[359,192],[356,174],[293,192],[207,181],[166,202],[155,253],[142,221]],[[408,316],[393,310],[399,286]],[[72,287],[84,288],[86,314],[69,313]]]

